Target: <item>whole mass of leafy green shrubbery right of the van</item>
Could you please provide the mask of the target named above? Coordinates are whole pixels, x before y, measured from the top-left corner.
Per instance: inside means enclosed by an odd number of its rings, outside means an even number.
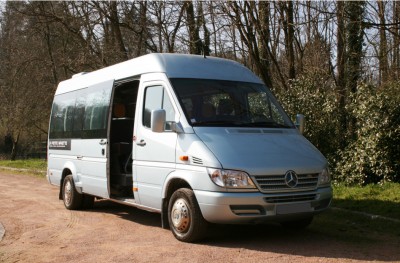
[[[277,97],[293,119],[296,113],[306,116],[304,135],[327,156],[337,182],[400,182],[400,82],[360,84],[347,100],[343,131],[336,91],[327,79],[305,74]]]

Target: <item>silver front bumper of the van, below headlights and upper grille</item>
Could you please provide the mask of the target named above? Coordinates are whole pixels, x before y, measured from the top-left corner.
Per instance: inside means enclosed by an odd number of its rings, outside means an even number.
[[[301,219],[326,210],[332,200],[331,187],[279,194],[194,192],[204,219],[220,224]]]

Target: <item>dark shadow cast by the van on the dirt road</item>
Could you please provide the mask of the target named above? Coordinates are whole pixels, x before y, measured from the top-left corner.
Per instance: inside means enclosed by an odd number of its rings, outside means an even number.
[[[160,214],[134,207],[101,200],[97,201],[90,211],[114,214],[125,220],[161,229]],[[298,231],[286,229],[278,224],[210,225],[207,237],[193,246],[247,249],[311,258],[400,261],[400,236],[395,234],[389,236],[389,239],[376,238],[371,236],[370,230],[364,229],[365,227],[356,229],[354,235],[354,227],[351,224],[332,228],[329,218],[334,213],[336,212],[328,211],[319,215],[311,226]]]

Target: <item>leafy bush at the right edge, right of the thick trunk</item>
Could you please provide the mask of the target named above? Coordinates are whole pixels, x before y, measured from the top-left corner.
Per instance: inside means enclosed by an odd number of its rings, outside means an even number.
[[[365,84],[350,96],[349,115],[355,135],[338,152],[337,180],[365,185],[399,182],[400,174],[400,83],[377,89]]]

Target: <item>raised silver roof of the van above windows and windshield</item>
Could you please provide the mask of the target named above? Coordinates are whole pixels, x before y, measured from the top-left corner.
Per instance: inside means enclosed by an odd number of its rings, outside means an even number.
[[[169,78],[221,79],[262,83],[248,68],[232,60],[199,55],[153,53],[90,73],[76,74],[60,82],[56,95],[100,82],[146,73],[165,73]]]

